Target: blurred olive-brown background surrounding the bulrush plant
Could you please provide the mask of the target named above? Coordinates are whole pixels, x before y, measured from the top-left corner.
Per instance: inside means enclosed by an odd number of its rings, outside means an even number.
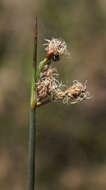
[[[88,80],[91,100],[37,110],[37,189],[106,189],[106,1],[0,0],[0,189],[27,189],[34,17],[38,62],[45,38],[70,51],[61,79]]]

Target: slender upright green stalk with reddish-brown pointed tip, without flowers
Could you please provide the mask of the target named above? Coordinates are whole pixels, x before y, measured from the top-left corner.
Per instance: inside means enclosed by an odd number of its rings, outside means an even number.
[[[31,103],[30,103],[30,126],[29,126],[29,171],[28,171],[28,190],[35,188],[35,155],[36,155],[36,89],[35,78],[37,68],[37,17],[35,19],[34,27],[34,52],[33,52],[33,76],[31,89]]]

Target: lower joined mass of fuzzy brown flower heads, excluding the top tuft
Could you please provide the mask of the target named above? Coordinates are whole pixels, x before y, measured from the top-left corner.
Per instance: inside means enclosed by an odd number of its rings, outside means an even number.
[[[45,65],[36,83],[37,106],[48,101],[74,104],[90,98],[89,92],[86,90],[86,81],[84,85],[73,81],[73,85],[65,90],[66,86],[58,78],[59,74],[56,69]]]

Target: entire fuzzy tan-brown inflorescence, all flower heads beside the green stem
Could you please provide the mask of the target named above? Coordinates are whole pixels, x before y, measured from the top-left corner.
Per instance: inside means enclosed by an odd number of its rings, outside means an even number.
[[[46,40],[47,54],[52,54],[53,56],[60,56],[66,54],[67,45],[65,41],[61,41],[53,38],[52,40]],[[57,61],[57,60],[55,60]],[[63,104],[75,104],[86,99],[90,99],[89,92],[87,91],[86,84],[73,81],[71,87],[67,88],[62,81],[59,80],[59,74],[57,70],[50,65],[51,62],[45,63],[42,71],[40,72],[40,77],[37,79],[36,88],[36,106],[41,106],[42,104],[48,102],[62,102]]]

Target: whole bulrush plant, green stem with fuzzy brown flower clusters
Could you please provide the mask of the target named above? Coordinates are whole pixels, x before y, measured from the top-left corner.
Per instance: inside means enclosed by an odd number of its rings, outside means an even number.
[[[35,153],[36,153],[36,108],[50,102],[75,104],[90,99],[87,91],[87,81],[84,84],[74,80],[67,87],[61,80],[53,62],[59,61],[63,55],[68,56],[67,44],[64,40],[46,39],[45,58],[37,67],[37,18],[35,21],[33,78],[30,106],[30,131],[29,131],[29,190],[34,190],[35,185]]]

